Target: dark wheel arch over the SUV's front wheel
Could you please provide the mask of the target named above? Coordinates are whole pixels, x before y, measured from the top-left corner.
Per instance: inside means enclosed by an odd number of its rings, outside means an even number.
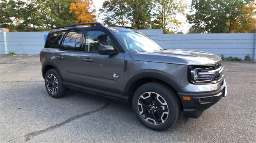
[[[139,74],[134,75],[124,86],[124,102],[131,104],[134,92],[143,84],[148,82],[161,82],[170,87],[174,92],[176,92],[176,96],[180,101],[180,105],[182,108],[182,102],[177,92],[183,92],[182,88],[176,83],[172,78],[166,76],[162,73],[162,71],[158,72],[141,72]]]

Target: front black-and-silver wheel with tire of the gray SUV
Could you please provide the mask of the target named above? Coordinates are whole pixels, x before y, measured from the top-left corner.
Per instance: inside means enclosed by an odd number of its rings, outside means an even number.
[[[144,84],[136,90],[132,108],[142,124],[156,131],[168,129],[180,115],[176,93],[157,82]]]

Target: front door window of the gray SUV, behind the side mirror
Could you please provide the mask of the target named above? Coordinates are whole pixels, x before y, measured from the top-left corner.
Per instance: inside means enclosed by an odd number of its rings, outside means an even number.
[[[87,31],[85,51],[97,53],[100,45],[114,47],[114,42],[102,31]]]

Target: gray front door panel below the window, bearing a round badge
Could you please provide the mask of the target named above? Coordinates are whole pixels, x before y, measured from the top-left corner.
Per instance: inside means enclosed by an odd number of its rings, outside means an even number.
[[[83,59],[91,59],[92,61],[88,62]],[[100,55],[86,52],[80,57],[80,73],[83,85],[121,93],[124,54]],[[118,77],[113,77],[114,73]]]

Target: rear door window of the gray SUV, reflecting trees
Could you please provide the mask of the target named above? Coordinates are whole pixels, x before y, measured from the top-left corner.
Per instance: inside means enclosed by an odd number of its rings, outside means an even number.
[[[82,32],[68,32],[63,41],[63,50],[82,51]]]

